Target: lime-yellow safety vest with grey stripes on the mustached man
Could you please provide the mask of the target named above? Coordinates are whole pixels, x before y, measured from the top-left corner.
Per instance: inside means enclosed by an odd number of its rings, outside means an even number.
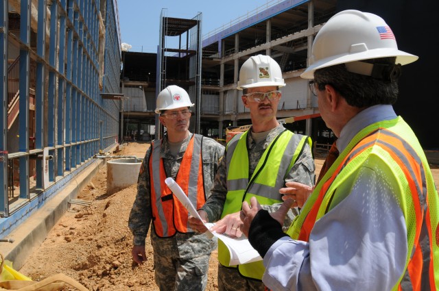
[[[308,136],[293,134],[289,130],[281,132],[265,149],[249,181],[247,134],[248,131],[235,136],[227,145],[227,196],[222,218],[239,212],[242,202],[250,203],[253,196],[263,205],[281,203],[279,189],[285,187],[285,177],[305,144],[309,143],[311,147]],[[221,240],[218,240],[218,260],[223,266],[229,266],[230,253]],[[265,270],[262,261],[242,264],[238,268],[241,275],[252,279],[262,279]]]

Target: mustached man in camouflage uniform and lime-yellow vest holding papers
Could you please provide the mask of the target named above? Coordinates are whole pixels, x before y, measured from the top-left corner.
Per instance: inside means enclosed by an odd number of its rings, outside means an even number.
[[[241,98],[244,106],[250,109],[252,127],[228,142],[211,197],[198,210],[204,222],[217,221],[211,231],[240,237],[242,201],[256,197],[265,210],[274,212],[283,201],[281,188],[283,193],[294,193],[287,182],[300,182],[310,187],[314,184],[311,139],[293,134],[276,120],[282,95],[278,88],[283,86],[281,68],[268,55],[252,56],[241,66],[238,90],[243,90]],[[299,199],[294,201],[295,208],[289,210],[285,219],[285,230],[298,214],[297,207],[301,206]],[[189,225],[197,231],[206,231],[203,222],[192,216]],[[220,291],[265,289],[261,281],[265,270],[262,261],[229,266],[230,255],[221,241],[218,241],[218,260]]]

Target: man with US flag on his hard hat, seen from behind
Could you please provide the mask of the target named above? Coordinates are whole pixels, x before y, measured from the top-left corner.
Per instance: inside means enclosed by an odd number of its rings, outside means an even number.
[[[242,230],[263,257],[268,288],[439,290],[438,192],[416,135],[392,107],[401,66],[417,59],[375,14],[345,10],[318,32],[301,77],[313,79],[340,155],[289,236],[279,222],[291,200],[271,215],[244,202]]]

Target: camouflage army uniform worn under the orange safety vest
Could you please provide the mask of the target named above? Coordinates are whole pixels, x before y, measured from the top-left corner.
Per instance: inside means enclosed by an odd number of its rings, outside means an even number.
[[[161,147],[161,158],[168,177],[176,179],[180,162],[192,134],[185,140],[180,153],[172,155],[165,136]],[[147,231],[152,223],[150,201],[150,173],[147,164],[151,148],[143,160],[143,173],[139,174],[137,197],[130,212],[128,226],[133,235],[134,245],[145,245]],[[204,191],[206,198],[217,171],[224,147],[211,138],[202,140],[202,163],[204,174]],[[158,169],[157,169],[158,170]],[[154,227],[152,227],[154,229]],[[207,283],[209,258],[217,247],[217,241],[204,234],[176,233],[171,238],[159,238],[151,231],[151,244],[154,249],[154,268],[156,284],[160,290],[204,290]],[[176,268],[178,266],[178,268]]]

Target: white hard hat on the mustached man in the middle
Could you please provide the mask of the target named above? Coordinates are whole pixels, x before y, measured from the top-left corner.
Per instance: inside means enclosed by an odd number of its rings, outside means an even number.
[[[254,55],[241,66],[238,90],[262,87],[285,86],[279,64],[269,55]]]

